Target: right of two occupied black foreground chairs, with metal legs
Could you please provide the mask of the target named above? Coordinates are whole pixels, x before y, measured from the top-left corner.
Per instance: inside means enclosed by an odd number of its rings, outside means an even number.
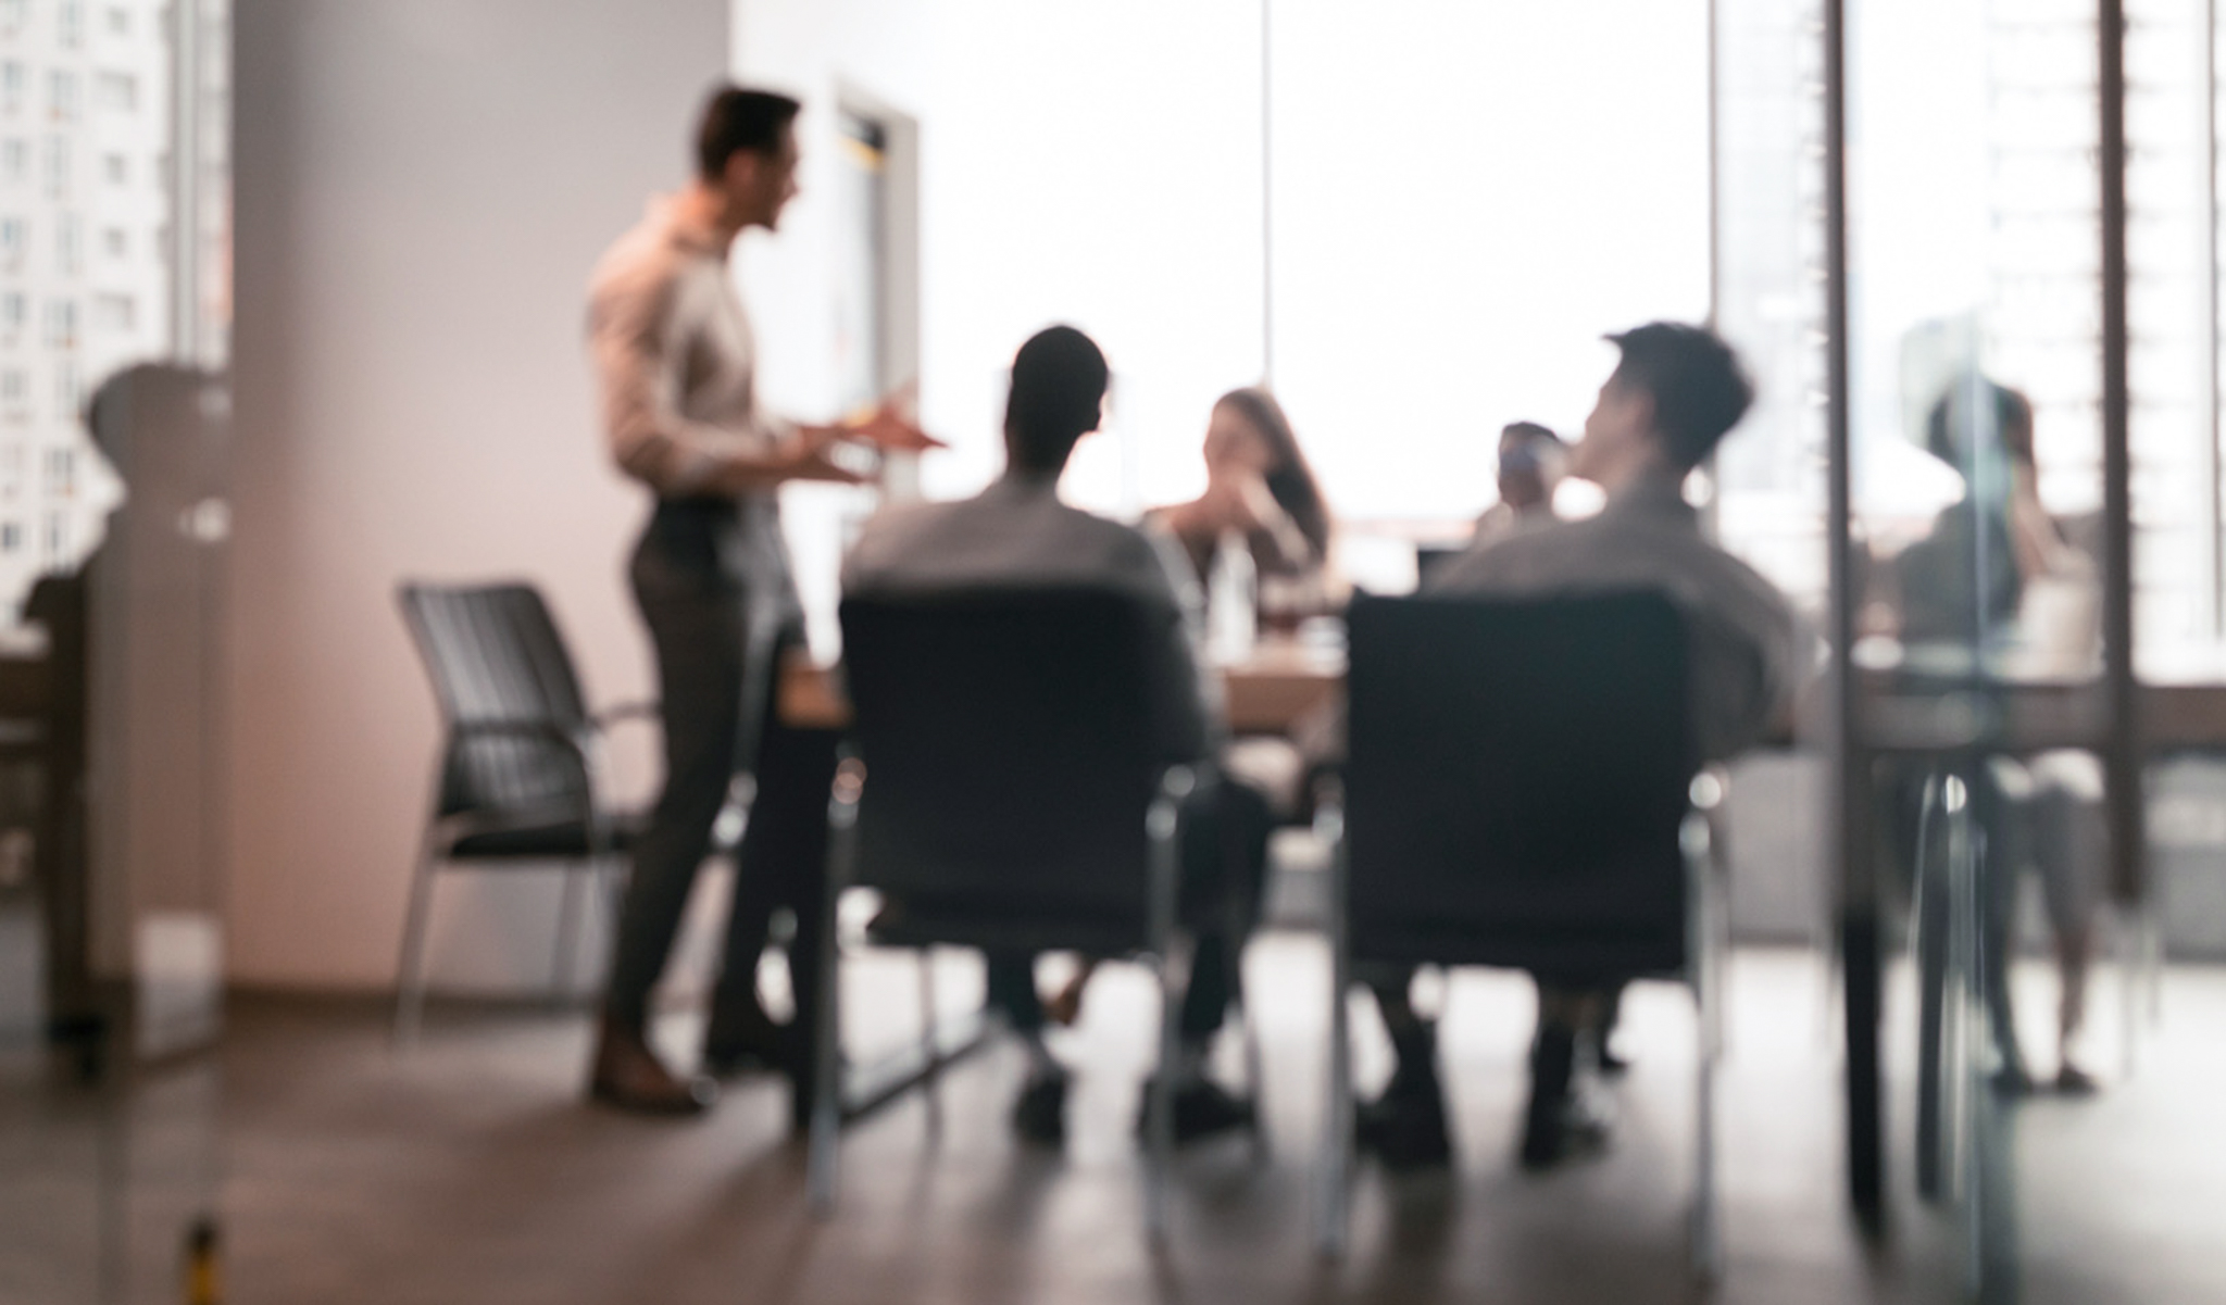
[[[1701,1007],[1692,1252],[1716,1265],[1716,935],[1692,808],[1685,630],[1652,592],[1356,599],[1333,840],[1331,1111],[1318,1245],[1351,1167],[1356,962],[1674,975]]]

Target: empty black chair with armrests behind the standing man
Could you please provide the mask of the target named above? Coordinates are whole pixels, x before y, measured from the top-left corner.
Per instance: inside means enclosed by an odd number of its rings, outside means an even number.
[[[619,869],[641,828],[603,797],[601,737],[652,704],[590,715],[572,655],[548,604],[525,583],[398,588],[403,619],[441,701],[432,811],[410,882],[394,1033],[410,1040],[425,1011],[425,924],[443,866],[565,866],[554,984],[572,973],[579,882]]]

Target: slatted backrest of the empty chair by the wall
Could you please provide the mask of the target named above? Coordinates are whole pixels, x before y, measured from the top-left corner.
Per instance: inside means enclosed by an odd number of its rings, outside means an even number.
[[[447,726],[441,815],[585,808],[565,739],[588,730],[588,706],[541,592],[405,583],[398,597]]]

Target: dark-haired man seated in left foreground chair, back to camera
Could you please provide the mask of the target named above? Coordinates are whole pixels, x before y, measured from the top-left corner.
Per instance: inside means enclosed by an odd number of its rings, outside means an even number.
[[[1106,361],[1073,327],[1048,327],[1020,347],[1004,416],[1006,472],[973,499],[888,508],[866,523],[844,563],[844,592],[982,590],[984,586],[1102,586],[1133,597],[1164,632],[1155,646],[1169,686],[1155,704],[1166,762],[1202,762],[1220,742],[1218,681],[1198,657],[1198,581],[1189,561],[1144,530],[1060,501],[1060,474],[1075,443],[1097,430]],[[1200,920],[1184,993],[1175,1087],[1175,1136],[1193,1140],[1251,1122],[1249,1100],[1204,1073],[1206,1047],[1235,993],[1244,944],[1222,922],[1258,911],[1267,864],[1267,802],[1235,782],[1209,777],[1182,813],[1186,911]],[[1031,1142],[1066,1134],[1066,1067],[1044,1044],[1035,955],[988,955],[988,998],[1028,1049],[1028,1078],[1013,1127]]]

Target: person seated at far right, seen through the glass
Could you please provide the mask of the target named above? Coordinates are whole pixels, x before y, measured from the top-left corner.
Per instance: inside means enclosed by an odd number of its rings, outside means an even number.
[[[2001,659],[2010,668],[2092,670],[2099,646],[2099,588],[2092,559],[2066,541],[2041,506],[2032,454],[2032,403],[1983,376],[1950,385],[1925,416],[1925,452],[1957,468],[1966,494],[1934,517],[1923,539],[1903,548],[1883,577],[1883,595],[1910,666],[1968,670]],[[1983,566],[1983,575],[1981,575]],[[1930,766],[1890,768],[1897,848],[1917,846]],[[2088,969],[2095,953],[2099,871],[2108,848],[2101,766],[2090,753],[1988,757],[1968,779],[1988,826],[1986,973],[1988,1024],[2001,1060],[1994,1085],[2030,1091],[2010,1002],[2010,951],[2021,873],[2041,882],[2059,978],[2057,1091],[2088,1096],[2095,1076],[2079,1067]],[[1908,864],[1901,866],[1910,871]]]

